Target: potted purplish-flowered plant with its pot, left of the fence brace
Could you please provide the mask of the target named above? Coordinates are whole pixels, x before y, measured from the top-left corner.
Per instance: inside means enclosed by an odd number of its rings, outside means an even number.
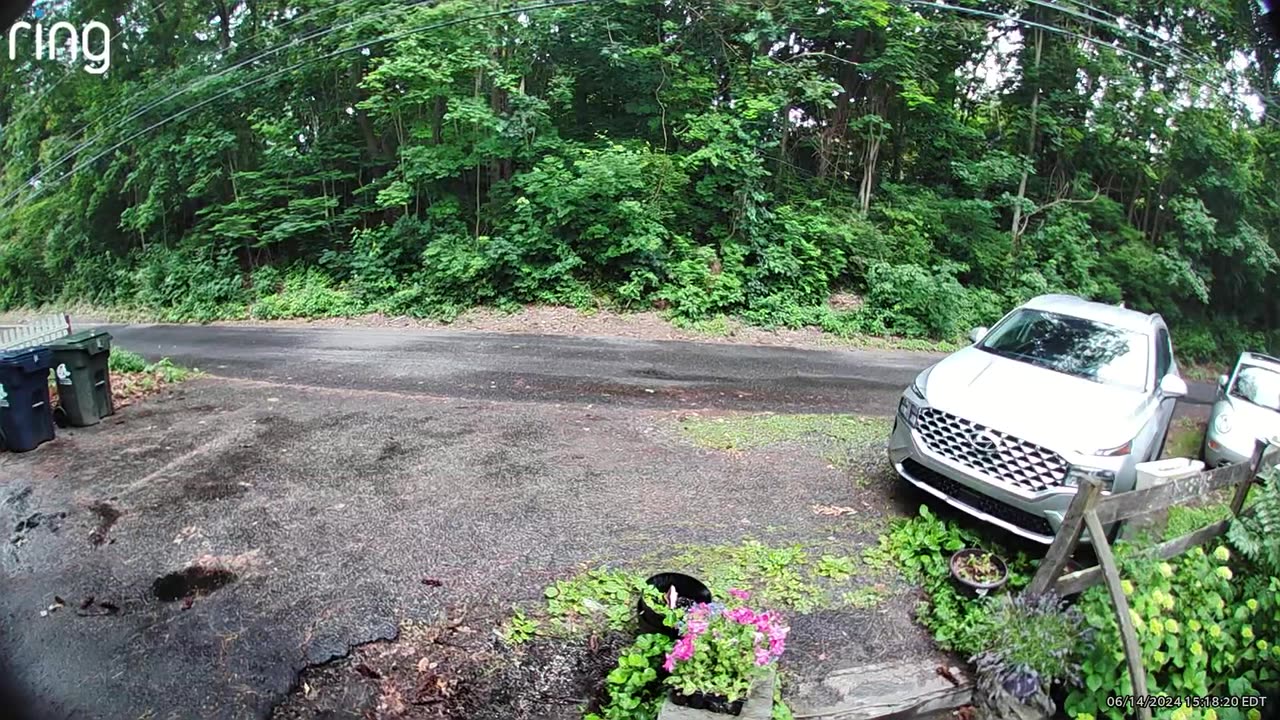
[[[1055,685],[1080,683],[1082,646],[1091,630],[1076,607],[1052,593],[1004,597],[984,632],[973,706],[978,720],[1048,720]]]

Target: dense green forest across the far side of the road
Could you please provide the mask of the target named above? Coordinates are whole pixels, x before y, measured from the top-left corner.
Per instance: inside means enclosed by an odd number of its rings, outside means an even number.
[[[1252,0],[59,0],[0,63],[0,307],[539,302],[950,338],[1033,295],[1280,348]],[[47,29],[46,29],[47,32]],[[841,300],[833,302],[832,297]]]

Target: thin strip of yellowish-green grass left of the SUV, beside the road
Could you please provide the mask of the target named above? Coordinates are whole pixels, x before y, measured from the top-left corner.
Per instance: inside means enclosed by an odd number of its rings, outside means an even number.
[[[680,423],[681,433],[694,445],[714,450],[751,450],[812,438],[863,446],[882,442],[890,429],[888,418],[859,415],[732,415]]]

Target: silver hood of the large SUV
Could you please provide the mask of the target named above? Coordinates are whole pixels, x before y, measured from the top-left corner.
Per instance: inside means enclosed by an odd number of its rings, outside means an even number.
[[[1093,452],[1133,439],[1146,393],[966,347],[925,370],[925,401],[940,410],[1059,452]]]

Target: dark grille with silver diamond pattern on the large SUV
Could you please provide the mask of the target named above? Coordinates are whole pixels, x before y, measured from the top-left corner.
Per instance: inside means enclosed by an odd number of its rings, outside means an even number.
[[[942,457],[1025,491],[1039,492],[1066,479],[1061,455],[937,407],[920,410],[916,432]]]

